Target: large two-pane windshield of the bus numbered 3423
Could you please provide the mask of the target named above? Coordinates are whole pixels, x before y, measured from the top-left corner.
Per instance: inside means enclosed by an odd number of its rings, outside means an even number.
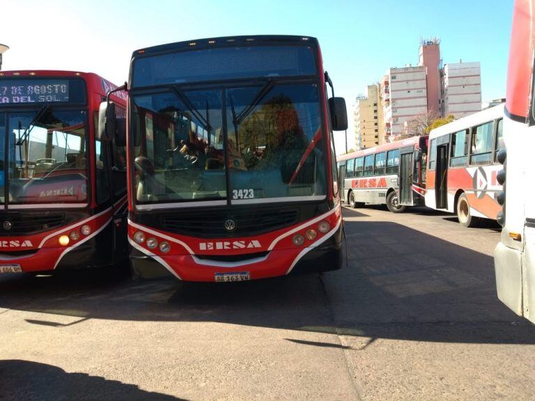
[[[318,84],[171,87],[132,101],[138,203],[325,198]]]

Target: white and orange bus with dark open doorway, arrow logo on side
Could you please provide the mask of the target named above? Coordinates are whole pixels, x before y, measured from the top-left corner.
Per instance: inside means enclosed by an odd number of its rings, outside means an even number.
[[[426,206],[456,213],[472,227],[496,219],[502,186],[497,153],[503,148],[503,104],[442,125],[429,133]]]

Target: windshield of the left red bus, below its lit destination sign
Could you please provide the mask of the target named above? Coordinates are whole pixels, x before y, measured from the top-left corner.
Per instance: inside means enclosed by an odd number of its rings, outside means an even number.
[[[4,120],[0,155],[7,156],[7,168],[0,175],[0,201],[6,201],[7,184],[9,204],[85,203],[86,111],[45,107],[11,112]]]

